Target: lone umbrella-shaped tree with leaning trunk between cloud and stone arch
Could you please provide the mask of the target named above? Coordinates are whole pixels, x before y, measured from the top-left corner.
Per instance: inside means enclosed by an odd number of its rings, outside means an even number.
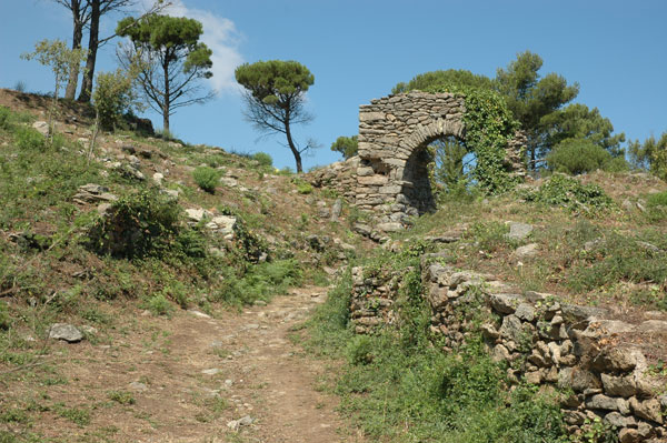
[[[315,148],[315,143],[299,147],[292,137],[292,125],[312,120],[303,109],[303,100],[315,77],[301,63],[282,60],[245,63],[235,73],[246,88],[246,118],[261,132],[285,134],[297,172],[302,172],[301,154]]]

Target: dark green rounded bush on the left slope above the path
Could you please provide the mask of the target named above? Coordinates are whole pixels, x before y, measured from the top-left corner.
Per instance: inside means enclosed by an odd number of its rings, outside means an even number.
[[[89,245],[102,254],[142,258],[169,252],[181,230],[180,207],[155,190],[113,202],[109,215],[89,230]]]

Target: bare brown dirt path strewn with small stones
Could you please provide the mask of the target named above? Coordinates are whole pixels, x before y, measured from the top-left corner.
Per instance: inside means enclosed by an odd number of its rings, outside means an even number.
[[[31,392],[50,405],[31,432],[68,442],[358,442],[336,399],[317,390],[323,363],[289,340],[325,299],[326,289],[298,289],[215,319],[139,311],[107,343],[58,343],[66,382]]]

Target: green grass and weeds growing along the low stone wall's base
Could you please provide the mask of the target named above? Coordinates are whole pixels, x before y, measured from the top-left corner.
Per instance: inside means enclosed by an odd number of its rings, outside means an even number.
[[[420,296],[416,251],[421,249],[404,251],[398,265],[388,254],[366,263],[370,274],[384,266],[415,266],[405,271],[396,301],[397,329],[352,333],[349,273],[309,322],[308,349],[347,362],[330,386],[341,397],[340,410],[374,441],[565,442],[556,400],[528,386],[508,393],[504,366],[490,360],[480,341],[449,354],[439,351]]]

